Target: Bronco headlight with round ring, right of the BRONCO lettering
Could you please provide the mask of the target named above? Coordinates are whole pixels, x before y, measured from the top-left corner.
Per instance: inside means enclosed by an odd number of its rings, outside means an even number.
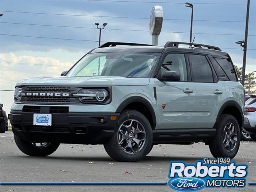
[[[81,89],[77,94],[80,102],[88,104],[100,104],[109,99],[109,93],[106,89]]]

